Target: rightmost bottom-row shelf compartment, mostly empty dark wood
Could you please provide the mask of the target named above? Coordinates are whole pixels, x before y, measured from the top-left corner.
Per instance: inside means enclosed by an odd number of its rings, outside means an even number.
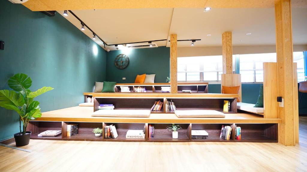
[[[238,142],[278,142],[278,124],[235,124],[241,127]]]

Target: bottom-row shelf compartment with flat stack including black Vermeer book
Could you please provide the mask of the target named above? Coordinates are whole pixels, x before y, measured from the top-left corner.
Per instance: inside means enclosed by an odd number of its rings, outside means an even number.
[[[230,140],[224,140],[220,138],[222,125],[231,126]],[[192,130],[205,130],[208,133],[207,139],[192,139],[192,141],[217,141],[217,142],[229,142],[234,141],[234,124],[192,124]]]

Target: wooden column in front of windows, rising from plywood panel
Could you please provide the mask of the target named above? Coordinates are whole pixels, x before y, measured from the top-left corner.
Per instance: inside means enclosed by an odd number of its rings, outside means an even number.
[[[232,73],[232,35],[231,32],[222,34],[223,73]]]

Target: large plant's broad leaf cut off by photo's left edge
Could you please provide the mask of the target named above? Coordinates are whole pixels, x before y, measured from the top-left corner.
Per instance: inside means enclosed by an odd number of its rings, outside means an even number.
[[[0,107],[4,107],[9,110],[15,110],[21,114],[19,107],[25,104],[25,100],[19,94],[13,90],[0,90]]]

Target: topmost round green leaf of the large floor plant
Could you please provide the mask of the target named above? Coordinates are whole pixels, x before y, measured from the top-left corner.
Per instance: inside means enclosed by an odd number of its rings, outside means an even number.
[[[10,77],[8,85],[13,90],[20,92],[23,90],[23,88],[30,88],[32,85],[32,80],[26,74],[17,73],[13,77]]]

